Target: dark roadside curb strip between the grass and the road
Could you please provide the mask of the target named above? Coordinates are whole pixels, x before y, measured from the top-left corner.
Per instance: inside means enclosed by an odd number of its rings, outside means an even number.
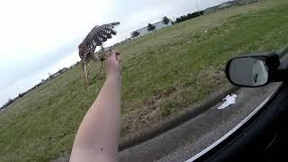
[[[220,88],[218,92],[209,94],[209,96],[204,98],[202,101],[193,103],[189,106],[188,109],[182,112],[178,112],[174,116],[167,117],[166,120],[157,123],[157,126],[153,125],[155,127],[152,127],[152,129],[143,129],[136,134],[121,139],[119,151],[136,146],[139,143],[142,143],[148,139],[153,139],[157,135],[160,135],[167,130],[174,129],[185,121],[189,121],[190,119],[201,114],[202,112],[209,110],[211,106],[219,103],[221,99],[224,98],[227,94],[231,94],[238,89],[240,89],[239,86],[226,85],[223,88]]]

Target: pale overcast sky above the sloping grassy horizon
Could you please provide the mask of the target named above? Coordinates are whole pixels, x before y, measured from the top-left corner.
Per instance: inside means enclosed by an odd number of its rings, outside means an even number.
[[[9,0],[0,2],[0,106],[77,60],[97,24],[121,22],[106,46],[163,16],[193,13],[227,0]]]

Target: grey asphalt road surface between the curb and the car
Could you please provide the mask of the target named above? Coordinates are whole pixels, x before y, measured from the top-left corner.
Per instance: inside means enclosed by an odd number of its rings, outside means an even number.
[[[185,161],[220,139],[257,108],[279,86],[241,88],[236,104],[218,110],[220,103],[173,130],[119,153],[120,161]]]

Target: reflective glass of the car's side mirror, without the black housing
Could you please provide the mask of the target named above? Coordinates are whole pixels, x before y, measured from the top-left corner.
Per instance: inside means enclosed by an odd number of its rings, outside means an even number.
[[[229,77],[237,85],[265,85],[268,81],[268,67],[261,59],[234,58],[229,65]]]

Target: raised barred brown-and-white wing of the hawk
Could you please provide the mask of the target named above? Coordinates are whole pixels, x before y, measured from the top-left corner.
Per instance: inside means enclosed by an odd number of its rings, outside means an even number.
[[[116,31],[113,31],[113,28],[119,24],[119,22],[116,22],[95,26],[78,47],[80,58],[85,58],[83,56],[85,53],[94,52],[97,46],[101,46],[104,41],[111,39],[112,35],[116,35]]]

